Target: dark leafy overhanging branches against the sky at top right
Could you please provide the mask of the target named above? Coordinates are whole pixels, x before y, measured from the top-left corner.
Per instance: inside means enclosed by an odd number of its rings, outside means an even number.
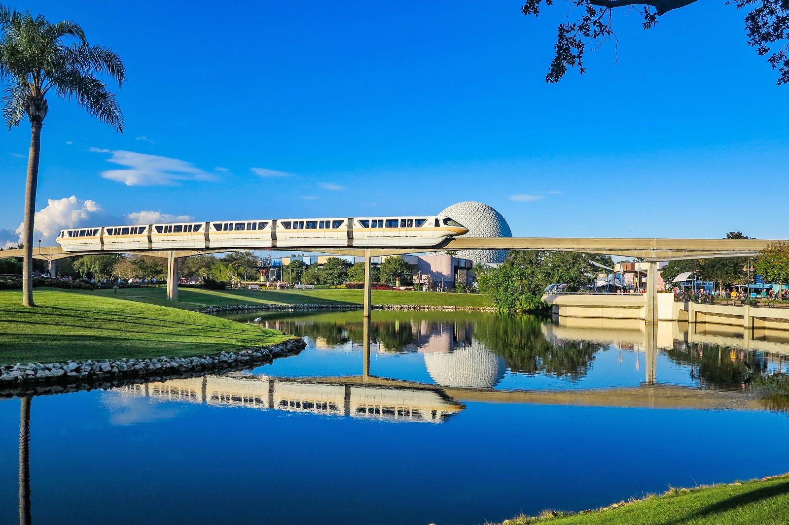
[[[587,46],[596,49],[616,35],[611,28],[614,9],[629,11],[638,6],[641,24],[645,29],[653,28],[658,17],[675,9],[690,6],[697,0],[567,0],[571,8],[577,9],[574,21],[559,24],[555,54],[545,76],[546,82],[559,82],[567,68],[578,68],[584,73],[584,52]],[[789,82],[789,2],[786,0],[731,0],[737,9],[750,9],[745,17],[746,42],[755,47],[757,54],[770,54],[767,61],[772,69],[778,69],[777,84]],[[521,10],[526,16],[539,16],[540,8],[552,6],[553,0],[526,0]],[[772,54],[771,54],[772,53]]]

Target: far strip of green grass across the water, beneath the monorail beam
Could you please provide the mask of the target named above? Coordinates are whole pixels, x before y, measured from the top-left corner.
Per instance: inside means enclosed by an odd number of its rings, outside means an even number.
[[[204,306],[230,306],[237,304],[338,304],[354,305],[364,301],[364,290],[206,290],[182,288],[178,301],[166,300],[163,288],[126,288],[86,292],[95,296],[115,297],[140,303],[194,310]],[[475,293],[406,292],[372,290],[373,304],[420,304],[427,306],[485,307],[490,306],[487,296]]]

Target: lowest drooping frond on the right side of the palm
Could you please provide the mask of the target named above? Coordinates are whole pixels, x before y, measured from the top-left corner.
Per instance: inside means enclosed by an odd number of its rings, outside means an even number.
[[[65,100],[77,99],[77,104],[88,114],[123,132],[123,114],[115,100],[115,95],[107,90],[107,84],[88,73],[78,69],[59,76],[53,81],[58,95]]]

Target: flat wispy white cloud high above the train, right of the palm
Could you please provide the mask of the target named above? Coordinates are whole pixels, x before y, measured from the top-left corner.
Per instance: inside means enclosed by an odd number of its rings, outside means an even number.
[[[109,152],[97,148],[91,148],[91,151]],[[179,181],[211,181],[214,178],[191,162],[178,158],[123,150],[111,153],[112,156],[107,162],[126,166],[126,169],[110,169],[103,171],[101,176],[110,181],[122,182],[127,186],[174,186]]]

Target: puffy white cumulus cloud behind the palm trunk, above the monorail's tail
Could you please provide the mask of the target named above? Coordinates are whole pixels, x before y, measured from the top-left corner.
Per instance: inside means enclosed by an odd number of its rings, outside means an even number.
[[[109,218],[107,210],[93,200],[77,199],[74,195],[63,199],[49,199],[46,207],[36,211],[33,238],[36,241],[42,238],[44,246],[52,246],[62,229],[104,225]],[[17,228],[20,240],[23,225],[24,223]]]

